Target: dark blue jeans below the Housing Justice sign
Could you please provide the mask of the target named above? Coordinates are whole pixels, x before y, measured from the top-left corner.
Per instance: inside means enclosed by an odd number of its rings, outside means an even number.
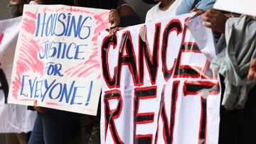
[[[77,125],[77,113],[55,109],[38,113],[28,144],[68,144]]]

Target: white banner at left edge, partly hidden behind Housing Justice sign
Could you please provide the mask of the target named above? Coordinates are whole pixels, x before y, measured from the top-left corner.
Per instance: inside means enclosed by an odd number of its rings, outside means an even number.
[[[20,28],[21,17],[0,21],[0,133],[32,131],[36,119],[36,112],[27,106],[6,104]]]

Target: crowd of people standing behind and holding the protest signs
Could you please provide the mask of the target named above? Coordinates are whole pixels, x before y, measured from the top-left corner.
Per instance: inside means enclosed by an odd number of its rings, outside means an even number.
[[[240,72],[244,69],[246,75],[242,80],[250,80],[250,84],[256,84],[256,58],[252,53],[255,52],[256,43],[256,20],[253,16],[244,16],[239,13],[233,14],[228,11],[218,11],[213,9],[215,0],[143,0],[147,4],[155,4],[146,13],[145,22],[159,22],[164,18],[178,16],[184,13],[196,12],[198,15],[203,14],[204,26],[211,28],[214,33],[221,35],[218,37],[219,43],[224,43],[218,48],[221,50],[219,55],[213,60],[213,67],[217,67],[219,71],[228,69],[220,64],[221,62],[235,63],[237,67],[233,68],[235,71]],[[11,0],[9,4],[9,12],[11,17],[22,15],[23,4],[65,4],[69,6],[85,6],[97,9],[110,9],[109,22],[110,22],[110,35],[113,35],[120,29],[126,26],[133,26],[142,23],[138,14],[132,6],[123,0]],[[243,23],[243,29],[236,27],[233,24]],[[250,26],[251,25],[251,26]],[[249,28],[249,30],[248,30]],[[237,32],[236,35],[230,31]],[[239,40],[235,41],[234,40]],[[239,47],[239,48],[238,48]],[[245,48],[246,50],[241,50]],[[252,50],[250,50],[252,49]],[[229,55],[228,52],[233,50],[233,54]],[[230,59],[226,58],[230,57]],[[228,60],[224,60],[228,59]],[[214,63],[215,62],[215,63]],[[217,63],[217,64],[216,64]],[[219,65],[218,65],[219,64]],[[247,67],[242,67],[247,65]],[[256,87],[252,87],[247,93],[244,103],[235,101],[230,103],[228,96],[233,92],[228,93],[235,86],[230,86],[232,79],[229,79],[229,70],[220,72],[222,91],[225,99],[220,111],[220,133],[219,143],[256,143],[254,138],[254,130],[256,129],[256,105],[255,94]],[[238,89],[238,87],[235,87]],[[241,98],[242,99],[242,98]],[[240,109],[237,109],[239,106]],[[235,109],[228,111],[228,109]],[[29,108],[31,109],[31,108]],[[88,116],[78,113],[71,113],[67,111],[60,111],[55,109],[47,109],[38,107],[35,101],[33,111],[38,111],[38,116],[34,124],[32,133],[21,134],[6,134],[8,143],[16,135],[19,143],[100,143],[100,106],[97,116]],[[29,110],[28,110],[29,111]]]

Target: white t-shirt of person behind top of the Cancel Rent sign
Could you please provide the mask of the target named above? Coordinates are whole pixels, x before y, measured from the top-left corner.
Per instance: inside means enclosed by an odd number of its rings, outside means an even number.
[[[174,3],[171,4],[169,9],[167,9],[166,11],[162,11],[159,8],[159,5],[161,4],[161,2],[159,2],[159,4],[156,4],[154,7],[149,9],[149,11],[146,13],[145,22],[146,23],[159,22],[162,19],[171,18],[171,17],[176,16],[176,11],[177,11],[177,8],[178,8],[179,4],[181,4],[181,1],[182,0],[174,1]]]

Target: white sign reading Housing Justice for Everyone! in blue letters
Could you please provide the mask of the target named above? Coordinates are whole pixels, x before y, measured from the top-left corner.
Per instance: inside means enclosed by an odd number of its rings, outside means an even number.
[[[96,115],[100,97],[97,35],[108,11],[26,5],[14,58],[9,103]]]

